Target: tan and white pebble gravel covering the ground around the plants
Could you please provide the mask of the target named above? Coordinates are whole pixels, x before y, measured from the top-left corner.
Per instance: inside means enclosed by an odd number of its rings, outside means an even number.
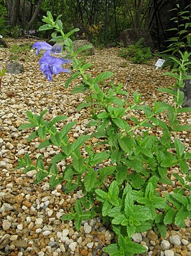
[[[9,45],[34,43],[34,40],[8,40]],[[0,48],[0,69],[10,63],[13,54],[8,49]],[[59,74],[48,82],[42,75],[39,57],[34,52],[28,52],[19,56],[19,63],[24,65],[24,73],[19,75],[6,74],[0,92],[0,255],[8,256],[69,256],[69,255],[107,255],[102,253],[113,239],[113,234],[106,230],[99,218],[83,223],[79,232],[76,232],[74,223],[62,223],[60,218],[69,212],[76,198],[81,192],[65,195],[62,186],[58,185],[54,190],[49,190],[46,179],[38,185],[34,185],[35,171],[22,174],[22,170],[14,170],[19,156],[28,152],[32,160],[40,153],[49,163],[51,156],[58,152],[56,146],[49,146],[47,150],[38,150],[39,141],[36,139],[27,143],[28,131],[19,131],[17,128],[27,121],[26,110],[40,113],[49,109],[47,119],[56,115],[68,116],[67,121],[77,121],[76,127],[69,134],[69,140],[76,140],[81,134],[92,133],[92,128],[85,128],[88,123],[88,110],[76,112],[79,103],[85,101],[83,93],[72,95],[71,91],[78,80],[74,81],[69,89],[64,88],[64,82],[68,74]],[[163,76],[165,70],[155,70],[154,61],[149,65],[135,65],[117,56],[117,49],[110,48],[96,50],[95,55],[88,57],[88,61],[94,63],[92,75],[101,71],[110,70],[115,73],[113,82],[123,82],[124,89],[129,91],[130,98],[133,91],[142,93],[142,98],[149,105],[155,100],[165,100],[172,103],[172,98],[156,91],[159,87],[171,86],[173,80]],[[126,65],[124,65],[126,62]],[[126,66],[126,67],[122,67]],[[132,113],[140,119],[138,113]],[[165,116],[161,116],[165,119]],[[181,122],[190,123],[188,114],[182,114]],[[60,123],[62,126],[63,123]],[[135,133],[140,133],[136,130]],[[152,130],[152,133],[160,135],[160,131]],[[189,149],[189,133],[177,133],[181,141]],[[172,138],[173,139],[173,138]],[[90,140],[94,145],[97,139]],[[96,148],[100,151],[101,146]],[[60,168],[65,163],[60,163]],[[169,170],[169,177],[173,186],[161,186],[160,192],[169,193],[178,181],[171,176],[172,172],[178,172],[178,168]],[[160,239],[152,230],[138,233],[133,240],[147,247],[149,256],[189,256],[190,244],[190,220],[186,221],[185,228],[174,225],[168,227],[165,238]]]

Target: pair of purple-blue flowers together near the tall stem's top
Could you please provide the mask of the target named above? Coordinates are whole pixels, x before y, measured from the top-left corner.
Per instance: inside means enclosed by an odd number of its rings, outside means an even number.
[[[63,68],[62,65],[70,63],[68,59],[53,57],[51,54],[62,54],[63,45],[49,45],[46,42],[34,43],[33,48],[37,49],[36,54],[38,55],[40,50],[45,50],[42,58],[40,59],[40,70],[47,77],[47,80],[52,80],[52,75],[57,75],[60,72],[68,73],[67,68]]]

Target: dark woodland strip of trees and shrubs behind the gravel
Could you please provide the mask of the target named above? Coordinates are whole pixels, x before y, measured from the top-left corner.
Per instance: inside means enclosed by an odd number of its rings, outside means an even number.
[[[156,47],[174,36],[174,22],[166,24],[163,8],[180,5],[185,10],[190,1],[166,0],[0,0],[0,34],[2,36],[26,36],[35,30],[35,36],[49,38],[51,31],[38,31],[41,17],[49,10],[53,17],[62,15],[65,31],[78,27],[78,38],[88,38],[94,45],[107,45],[117,41],[124,29],[147,29]],[[176,10],[172,17],[177,15]],[[185,22],[188,22],[185,20]],[[158,42],[156,39],[158,38]],[[161,39],[162,38],[162,39]],[[166,43],[169,45],[169,43]]]

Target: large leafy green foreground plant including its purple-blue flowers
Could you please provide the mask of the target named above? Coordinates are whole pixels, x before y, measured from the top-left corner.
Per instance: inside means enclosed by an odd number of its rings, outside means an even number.
[[[65,182],[65,193],[82,189],[84,197],[76,200],[74,209],[63,216],[63,221],[74,220],[78,230],[83,220],[102,216],[103,222],[117,235],[116,243],[104,248],[104,252],[109,255],[143,253],[146,249],[131,241],[131,236],[135,232],[144,232],[153,227],[164,236],[165,225],[175,223],[184,227],[185,218],[190,218],[191,197],[185,193],[186,190],[190,190],[187,163],[190,153],[185,151],[185,146],[177,138],[172,141],[170,136],[172,132],[190,129],[190,126],[178,123],[178,115],[190,111],[190,108],[181,108],[183,92],[180,90],[184,86],[183,80],[189,78],[186,73],[190,64],[190,54],[180,52],[181,59],[174,58],[174,61],[178,62],[178,68],[174,73],[167,73],[176,78],[176,90],[160,89],[174,96],[174,105],[164,102],[155,102],[153,107],[143,105],[137,92],[133,93],[131,103],[126,100],[128,93],[122,89],[122,84],[110,84],[108,89],[102,89],[103,82],[112,77],[113,73],[105,72],[92,77],[88,71],[92,65],[81,65],[77,55],[87,50],[88,46],[74,52],[69,36],[77,29],[65,34],[59,17],[54,21],[51,13],[47,13],[43,21],[46,24],[40,27],[40,30],[56,29],[51,40],[57,45],[33,45],[38,52],[47,50],[40,59],[40,69],[48,80],[52,80],[54,74],[68,72],[69,69],[61,65],[68,65],[72,61],[72,74],[65,87],[77,77],[82,77],[81,84],[74,88],[73,93],[87,93],[87,102],[78,105],[77,109],[91,107],[90,125],[97,130],[92,137],[102,138],[107,150],[95,153],[90,146],[85,146],[87,157],[84,157],[81,146],[85,145],[90,135],[82,135],[73,143],[69,142],[68,133],[75,125],[74,121],[67,123],[62,130],[57,130],[56,123],[67,119],[67,116],[56,116],[51,121],[45,121],[43,116],[47,110],[42,111],[40,115],[28,111],[29,123],[19,127],[19,130],[35,129],[28,137],[28,142],[40,137],[42,143],[39,149],[53,144],[60,148],[60,153],[53,156],[48,169],[44,167],[42,156],[39,156],[34,164],[28,154],[19,159],[17,168],[24,168],[25,173],[38,170],[35,183],[47,176],[50,177],[51,187]],[[65,53],[65,59],[60,58],[60,55],[52,55],[61,52]],[[130,110],[143,111],[144,120],[140,121],[128,115]],[[161,112],[167,112],[167,123],[160,120]],[[128,120],[133,121],[134,126],[130,126]],[[149,128],[156,126],[163,131],[162,137],[149,135]],[[133,131],[138,127],[146,131],[135,137]],[[65,166],[63,174],[60,174],[57,164],[66,158],[71,158],[72,161]],[[103,165],[99,169],[99,163],[104,163],[105,160],[110,160],[111,164]],[[167,177],[167,170],[176,165],[185,175],[183,179],[181,175],[175,174],[182,187],[170,195],[160,197],[156,190],[158,183],[171,183]]]

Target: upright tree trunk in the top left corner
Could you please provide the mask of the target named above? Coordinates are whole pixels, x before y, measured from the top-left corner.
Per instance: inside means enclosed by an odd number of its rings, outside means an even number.
[[[11,29],[13,29],[17,25],[17,21],[19,18],[19,5],[20,0],[6,0],[8,22]]]

